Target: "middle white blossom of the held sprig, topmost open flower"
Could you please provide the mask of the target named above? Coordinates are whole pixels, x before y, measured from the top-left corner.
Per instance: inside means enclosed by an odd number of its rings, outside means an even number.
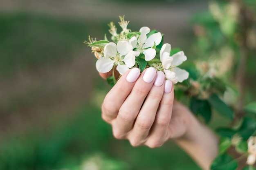
[[[130,38],[129,42],[132,44],[133,49],[136,48],[136,51],[145,55],[146,61],[150,61],[156,55],[156,51],[152,47],[160,44],[162,41],[162,35],[161,33],[154,33],[147,38],[147,34],[150,32],[150,29],[146,26],[142,27],[139,32],[139,37],[137,38],[134,36]]]

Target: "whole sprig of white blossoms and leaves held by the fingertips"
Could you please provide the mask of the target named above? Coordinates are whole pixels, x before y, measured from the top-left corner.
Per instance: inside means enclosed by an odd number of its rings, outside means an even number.
[[[148,27],[142,27],[139,32],[132,32],[127,29],[129,21],[125,21],[124,17],[119,16],[122,31],[117,33],[114,22],[110,22],[109,32],[111,33],[110,42],[106,36],[104,40],[97,41],[91,39],[85,41],[92,48],[95,57],[97,71],[100,73],[108,73],[113,71],[112,77],[108,82],[115,84],[115,69],[120,76],[128,69],[137,67],[142,72],[147,67],[153,67],[156,71],[162,71],[166,79],[176,84],[188,79],[189,73],[179,66],[187,57],[183,51],[177,51],[171,55],[171,44],[162,44],[163,35],[155,30],[151,31]]]

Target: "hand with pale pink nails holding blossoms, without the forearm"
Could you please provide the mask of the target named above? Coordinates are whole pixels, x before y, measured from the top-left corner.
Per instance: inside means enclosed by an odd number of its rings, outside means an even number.
[[[101,77],[108,76],[100,74]],[[120,77],[102,104],[102,118],[112,125],[117,139],[132,146],[162,146],[172,138],[185,137],[191,113],[174,101],[173,85],[164,73],[132,68]]]

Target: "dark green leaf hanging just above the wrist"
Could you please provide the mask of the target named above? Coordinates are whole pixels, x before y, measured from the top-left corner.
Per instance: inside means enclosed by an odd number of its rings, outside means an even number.
[[[190,100],[190,108],[195,115],[201,115],[206,123],[211,120],[211,106],[207,100],[199,100],[195,97]]]

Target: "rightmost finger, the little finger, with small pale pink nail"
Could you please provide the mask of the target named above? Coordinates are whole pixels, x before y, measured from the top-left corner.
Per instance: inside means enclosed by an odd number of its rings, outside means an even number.
[[[166,80],[164,84],[164,94],[157,110],[155,122],[146,142],[146,145],[150,148],[162,146],[168,139],[168,127],[172,116],[173,99],[173,84],[170,80]]]

